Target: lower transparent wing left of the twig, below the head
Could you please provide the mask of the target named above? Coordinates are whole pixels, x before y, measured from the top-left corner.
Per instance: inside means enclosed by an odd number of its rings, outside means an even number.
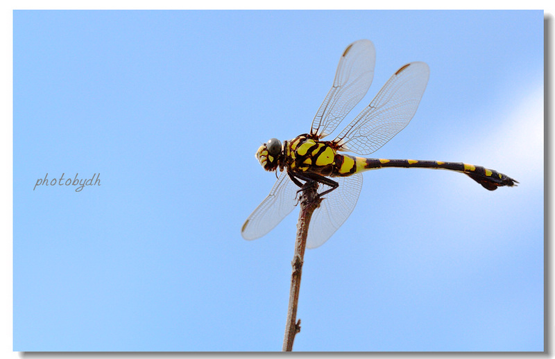
[[[298,186],[291,181],[287,171],[283,171],[272,187],[268,197],[250,213],[241,228],[241,235],[246,240],[264,236],[277,226],[297,204]]]

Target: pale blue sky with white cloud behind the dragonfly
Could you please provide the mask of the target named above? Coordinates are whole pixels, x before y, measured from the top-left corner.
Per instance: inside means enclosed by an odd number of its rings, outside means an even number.
[[[543,350],[543,11],[16,11],[15,351],[279,351],[297,211],[239,229],[275,176],[253,154],[309,130],[345,46],[376,47],[367,105],[431,74],[305,254],[296,351]],[[338,130],[342,130],[340,125]],[[88,179],[101,186],[37,186]]]

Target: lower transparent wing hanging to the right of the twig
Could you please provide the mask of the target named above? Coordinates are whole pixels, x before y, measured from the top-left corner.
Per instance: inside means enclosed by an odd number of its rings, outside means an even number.
[[[316,248],[330,239],[343,222],[352,213],[357,205],[362,189],[362,175],[355,173],[349,177],[334,177],[339,182],[339,187],[323,196],[323,200],[310,220],[307,235],[307,248]],[[329,189],[320,184],[318,193]]]

